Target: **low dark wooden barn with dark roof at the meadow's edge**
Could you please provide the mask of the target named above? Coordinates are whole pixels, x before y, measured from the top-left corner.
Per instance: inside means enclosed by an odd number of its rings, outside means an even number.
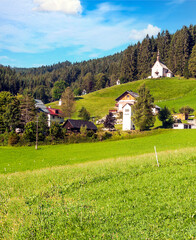
[[[97,131],[97,127],[93,122],[84,121],[84,120],[74,120],[74,119],[67,119],[66,122],[63,124],[63,127],[68,130],[68,132],[80,132],[81,127],[85,127],[87,131]]]

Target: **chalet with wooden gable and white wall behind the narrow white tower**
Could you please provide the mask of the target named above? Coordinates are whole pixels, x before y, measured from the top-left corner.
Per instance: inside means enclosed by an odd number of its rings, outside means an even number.
[[[134,104],[136,101],[136,98],[139,97],[139,95],[135,92],[132,91],[125,91],[123,94],[121,94],[118,98],[116,98],[116,107],[117,111],[123,112],[123,107],[129,103],[129,104]]]

